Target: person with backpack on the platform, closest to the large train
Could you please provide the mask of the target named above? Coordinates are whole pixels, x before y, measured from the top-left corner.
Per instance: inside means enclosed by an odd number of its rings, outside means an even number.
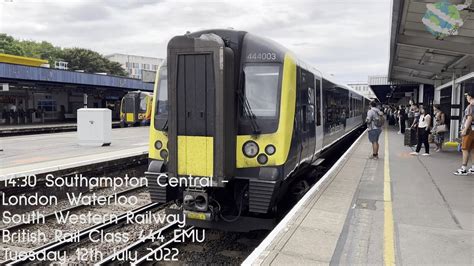
[[[382,127],[385,119],[383,113],[377,108],[375,101],[370,103],[370,110],[367,111],[367,127],[369,128],[369,141],[372,143],[372,155],[369,159],[379,158],[379,137],[382,133]]]

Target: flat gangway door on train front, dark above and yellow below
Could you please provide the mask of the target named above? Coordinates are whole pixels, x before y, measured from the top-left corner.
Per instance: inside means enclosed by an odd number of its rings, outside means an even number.
[[[214,75],[211,54],[178,56],[178,171],[212,176]]]

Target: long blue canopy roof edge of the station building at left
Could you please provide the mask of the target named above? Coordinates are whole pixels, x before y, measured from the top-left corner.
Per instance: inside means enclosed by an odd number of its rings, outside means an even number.
[[[153,91],[153,83],[146,83],[139,79],[5,63],[0,63],[0,81],[33,81],[37,83],[62,83],[88,87]]]

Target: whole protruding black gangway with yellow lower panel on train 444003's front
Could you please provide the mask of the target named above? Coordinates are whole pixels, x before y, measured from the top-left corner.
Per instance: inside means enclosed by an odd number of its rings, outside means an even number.
[[[176,36],[168,43],[168,173],[213,177],[235,169],[234,54],[220,37]]]

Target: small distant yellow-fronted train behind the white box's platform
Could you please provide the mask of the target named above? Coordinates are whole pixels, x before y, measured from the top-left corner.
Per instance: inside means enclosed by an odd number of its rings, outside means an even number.
[[[120,102],[120,127],[150,125],[153,93],[130,91]]]

